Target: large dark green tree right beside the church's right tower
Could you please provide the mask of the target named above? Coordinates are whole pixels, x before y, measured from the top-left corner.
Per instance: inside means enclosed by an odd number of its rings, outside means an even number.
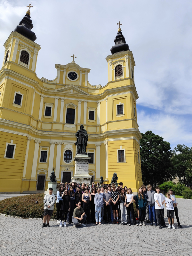
[[[150,183],[156,186],[157,183],[172,180],[174,175],[170,143],[152,131],[141,134],[143,137],[140,139],[140,158],[144,184]]]

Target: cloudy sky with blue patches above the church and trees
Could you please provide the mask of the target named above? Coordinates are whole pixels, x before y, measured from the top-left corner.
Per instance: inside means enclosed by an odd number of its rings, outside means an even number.
[[[0,0],[0,58],[3,44],[29,3]],[[192,147],[192,1],[38,0],[31,19],[41,45],[36,73],[52,80],[55,64],[91,68],[89,82],[108,82],[105,58],[114,45],[120,20],[133,52],[139,95],[140,132],[152,130],[171,143]]]

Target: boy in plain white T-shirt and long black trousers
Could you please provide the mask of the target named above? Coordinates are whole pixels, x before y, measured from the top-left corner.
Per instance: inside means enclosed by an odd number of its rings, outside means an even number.
[[[157,218],[157,223],[159,225],[159,228],[167,228],[165,225],[164,221],[164,202],[165,202],[165,196],[160,193],[160,188],[156,187],[155,188],[156,193],[154,194],[154,200],[155,200],[155,211],[156,211],[156,218]]]

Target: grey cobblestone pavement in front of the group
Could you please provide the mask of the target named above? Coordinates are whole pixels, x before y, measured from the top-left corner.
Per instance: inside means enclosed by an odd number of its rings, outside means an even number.
[[[41,228],[42,220],[26,220],[0,215],[0,255],[192,255],[192,200],[177,199],[183,229],[150,226],[87,225]],[[165,223],[168,225],[166,210]]]

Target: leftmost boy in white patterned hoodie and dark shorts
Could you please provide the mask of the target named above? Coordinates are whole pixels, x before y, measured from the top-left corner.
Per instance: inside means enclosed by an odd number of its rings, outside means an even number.
[[[51,219],[51,215],[53,213],[53,208],[54,208],[54,204],[55,204],[55,195],[53,194],[53,189],[52,188],[49,188],[49,194],[46,194],[44,196],[44,200],[43,200],[43,203],[44,203],[44,217],[43,217],[43,226],[42,228],[44,227],[50,227],[49,226],[49,221]],[[46,224],[46,221],[47,221],[47,225]]]

